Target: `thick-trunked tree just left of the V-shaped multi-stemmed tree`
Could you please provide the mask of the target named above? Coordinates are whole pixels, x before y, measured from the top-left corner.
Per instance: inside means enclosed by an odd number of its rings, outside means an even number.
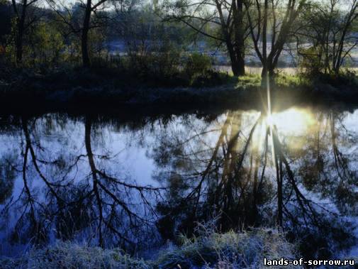
[[[166,21],[181,21],[197,33],[225,44],[235,76],[245,75],[246,27],[243,0],[179,0],[169,4]]]

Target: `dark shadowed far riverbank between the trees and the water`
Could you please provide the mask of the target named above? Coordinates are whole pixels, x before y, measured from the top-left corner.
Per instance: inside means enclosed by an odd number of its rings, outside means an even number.
[[[170,84],[170,83],[169,83]],[[118,107],[247,106],[260,108],[262,98],[259,75],[230,77],[214,86],[153,86],[133,77],[110,74],[57,72],[51,75],[26,75],[11,82],[0,82],[0,106],[4,111],[28,109],[94,109]],[[279,75],[272,87],[274,106],[293,104],[356,104],[357,77],[307,79],[298,75]]]

